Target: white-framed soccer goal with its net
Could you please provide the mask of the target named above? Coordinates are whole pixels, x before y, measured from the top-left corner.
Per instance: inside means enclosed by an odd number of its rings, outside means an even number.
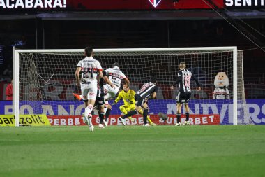
[[[237,50],[236,47],[94,49],[93,51],[94,58],[100,61],[103,69],[112,67],[114,62],[119,62],[121,71],[130,80],[130,89],[136,92],[150,76],[156,76],[158,96],[157,99],[149,101],[150,115],[158,115],[159,112],[172,117],[176,115],[177,90],[170,90],[170,86],[176,80],[179,62],[185,62],[187,69],[192,71],[202,85],[202,90],[197,92],[195,82],[191,83],[192,96],[189,106],[190,117],[195,115],[193,124],[207,123],[207,119],[204,119],[207,115],[218,115],[220,118],[218,124],[251,123],[245,104],[243,51]],[[17,126],[19,115],[24,114],[82,115],[84,104],[74,99],[73,92],[80,94],[79,87],[75,86],[75,69],[79,60],[84,59],[84,49],[16,50],[14,48],[13,59],[15,93],[13,114]],[[225,99],[215,99],[215,96],[222,92],[222,89],[215,92],[214,80],[218,74],[228,78],[229,85],[225,87],[224,90],[227,91],[223,95]],[[119,106],[113,106],[111,114],[120,115]],[[185,115],[184,109],[183,114]],[[167,121],[173,124],[176,118]]]

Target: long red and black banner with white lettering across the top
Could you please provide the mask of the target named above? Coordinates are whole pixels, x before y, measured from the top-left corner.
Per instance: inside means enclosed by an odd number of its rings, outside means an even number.
[[[179,10],[218,8],[264,8],[264,0],[0,0],[0,12],[86,10]]]

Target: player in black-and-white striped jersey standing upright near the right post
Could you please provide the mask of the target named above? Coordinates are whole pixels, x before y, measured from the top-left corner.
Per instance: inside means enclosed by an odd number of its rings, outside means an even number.
[[[177,85],[179,87],[178,95],[176,96],[176,126],[181,125],[181,107],[182,104],[185,105],[185,113],[186,113],[186,120],[184,122],[184,125],[190,125],[189,116],[190,116],[190,108],[188,106],[188,101],[190,100],[191,96],[191,89],[190,89],[190,79],[192,78],[196,82],[196,90],[201,90],[201,86],[199,84],[199,81],[197,78],[192,74],[192,72],[188,71],[186,68],[185,62],[181,62],[179,64],[179,73],[178,77],[176,78],[176,83],[174,85]],[[174,85],[172,85],[170,88],[171,90],[174,90]]]

